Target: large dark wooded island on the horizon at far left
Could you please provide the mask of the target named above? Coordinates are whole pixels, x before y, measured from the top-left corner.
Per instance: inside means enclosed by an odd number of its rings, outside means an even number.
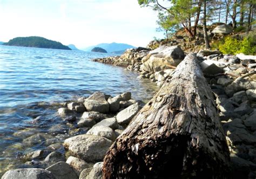
[[[3,45],[71,50],[70,47],[63,45],[60,42],[56,42],[53,40],[49,40],[43,37],[36,37],[36,36],[16,37],[14,39],[9,40],[8,43],[4,43]]]

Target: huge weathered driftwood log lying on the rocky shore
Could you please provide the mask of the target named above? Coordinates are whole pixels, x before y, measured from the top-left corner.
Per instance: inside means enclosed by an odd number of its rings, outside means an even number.
[[[230,157],[211,88],[189,54],[104,158],[104,178],[228,178]]]

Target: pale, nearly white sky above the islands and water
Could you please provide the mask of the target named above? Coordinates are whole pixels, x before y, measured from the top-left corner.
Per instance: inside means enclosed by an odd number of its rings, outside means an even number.
[[[83,49],[99,43],[146,46],[157,13],[137,0],[0,0],[0,41],[41,36]]]

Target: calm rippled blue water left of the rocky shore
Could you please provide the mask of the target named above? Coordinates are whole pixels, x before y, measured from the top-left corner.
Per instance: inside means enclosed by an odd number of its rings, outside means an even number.
[[[152,97],[155,85],[136,79],[138,73],[90,60],[106,56],[110,54],[0,45],[0,176],[24,165],[19,156],[77,134],[76,125],[66,125],[56,114],[58,102],[95,91],[130,91],[143,101]],[[42,140],[26,140],[38,133]]]

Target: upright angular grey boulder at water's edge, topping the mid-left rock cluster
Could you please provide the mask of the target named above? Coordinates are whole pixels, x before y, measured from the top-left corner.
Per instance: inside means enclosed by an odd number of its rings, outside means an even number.
[[[99,113],[109,112],[109,103],[105,99],[105,94],[101,92],[93,93],[85,99],[84,106],[87,111],[96,111]]]

